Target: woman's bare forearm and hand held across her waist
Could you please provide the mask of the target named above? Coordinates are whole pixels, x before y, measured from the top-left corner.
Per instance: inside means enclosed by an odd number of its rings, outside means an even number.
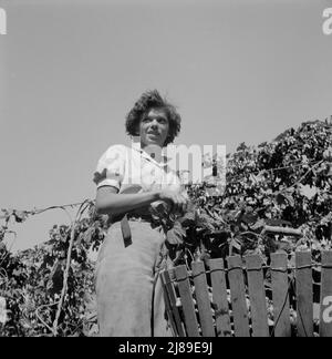
[[[118,194],[112,186],[97,188],[95,205],[100,214],[121,214],[144,207],[155,201],[164,201],[173,212],[185,212],[187,199],[174,191],[153,191],[137,194]]]

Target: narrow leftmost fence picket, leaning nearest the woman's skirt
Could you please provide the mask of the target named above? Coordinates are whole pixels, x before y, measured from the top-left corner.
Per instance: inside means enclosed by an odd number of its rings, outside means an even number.
[[[170,318],[169,318],[170,322],[174,326],[177,335],[179,337],[185,337],[186,334],[183,328],[180,315],[178,312],[178,308],[176,305],[176,293],[175,293],[174,285],[172,283],[168,270],[165,270],[162,273],[162,280],[163,280],[164,291],[165,291],[165,296],[166,296],[166,300],[167,300],[166,304],[168,304],[169,310],[172,311]]]

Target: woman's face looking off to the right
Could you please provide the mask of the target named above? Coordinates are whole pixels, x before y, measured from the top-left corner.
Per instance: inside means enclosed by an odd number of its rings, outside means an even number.
[[[163,109],[151,109],[139,122],[142,148],[147,145],[164,146],[169,131],[169,122]]]

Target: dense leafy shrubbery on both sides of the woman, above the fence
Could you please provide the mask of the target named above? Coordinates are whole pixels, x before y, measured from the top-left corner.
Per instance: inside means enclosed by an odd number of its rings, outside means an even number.
[[[188,187],[194,206],[168,233],[173,264],[251,253],[269,263],[279,249],[290,264],[297,249],[311,249],[319,261],[320,250],[331,248],[331,123],[321,121],[258,147],[242,143],[228,156],[222,196],[210,196],[208,183]],[[2,211],[0,336],[96,334],[90,253],[103,240],[106,223],[94,215],[92,202],[87,207],[89,215],[72,227],[54,226],[44,245],[15,255],[3,243],[9,220],[33,213]]]

